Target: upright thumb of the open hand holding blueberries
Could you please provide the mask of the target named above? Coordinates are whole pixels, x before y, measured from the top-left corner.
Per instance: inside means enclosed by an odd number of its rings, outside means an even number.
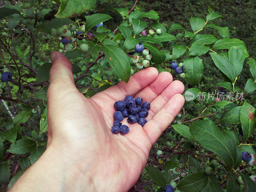
[[[62,53],[55,51],[51,54],[52,68],[50,69],[51,85],[75,85],[72,74],[72,65],[68,58]]]

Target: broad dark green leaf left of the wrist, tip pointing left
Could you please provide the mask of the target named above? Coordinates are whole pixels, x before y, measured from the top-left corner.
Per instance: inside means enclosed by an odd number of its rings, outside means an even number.
[[[12,143],[11,148],[7,151],[14,154],[24,154],[30,152],[35,147],[36,141],[31,139],[21,139],[16,141],[16,143]]]

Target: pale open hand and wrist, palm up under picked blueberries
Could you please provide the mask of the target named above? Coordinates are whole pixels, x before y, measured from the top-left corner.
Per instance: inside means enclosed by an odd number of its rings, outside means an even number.
[[[60,52],[53,52],[51,60],[47,148],[10,192],[128,191],[151,146],[182,108],[184,85],[168,72],[146,68],[127,84],[122,81],[87,99],[76,89],[70,61]],[[114,103],[127,95],[150,102],[148,122],[142,127],[124,118],[129,133],[113,134]]]

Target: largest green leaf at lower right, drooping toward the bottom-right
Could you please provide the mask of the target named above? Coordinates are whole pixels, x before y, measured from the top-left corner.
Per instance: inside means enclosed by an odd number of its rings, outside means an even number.
[[[196,121],[190,124],[189,131],[197,143],[216,153],[230,169],[235,163],[236,144],[233,137],[221,131],[210,120]]]

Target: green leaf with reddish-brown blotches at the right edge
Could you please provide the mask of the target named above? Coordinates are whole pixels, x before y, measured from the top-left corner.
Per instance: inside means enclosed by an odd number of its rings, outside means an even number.
[[[254,131],[256,122],[255,122],[255,108],[252,107],[252,105],[250,105],[247,102],[244,102],[241,110],[240,110],[240,121],[242,124],[242,130],[244,133],[244,140],[243,142],[245,142],[248,137],[252,134],[252,132]]]

